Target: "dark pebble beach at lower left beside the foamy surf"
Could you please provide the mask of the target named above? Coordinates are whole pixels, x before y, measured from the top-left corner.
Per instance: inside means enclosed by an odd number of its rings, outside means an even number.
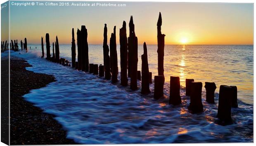
[[[66,138],[66,130],[55,119],[24,99],[32,89],[56,81],[48,74],[26,70],[31,67],[19,57],[10,58],[10,144],[77,144]]]

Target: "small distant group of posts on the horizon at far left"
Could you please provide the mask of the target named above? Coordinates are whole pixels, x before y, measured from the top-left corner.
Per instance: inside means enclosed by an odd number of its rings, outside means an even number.
[[[7,41],[2,41],[1,42],[1,52],[4,52],[6,50],[8,50],[8,46],[9,46],[9,43],[7,43]],[[25,42],[23,43],[22,40],[21,40],[21,50],[23,50],[23,48],[27,51],[27,39],[25,38]],[[18,40],[11,40],[10,42],[10,50],[13,50],[13,51],[19,51],[19,46],[18,46]]]

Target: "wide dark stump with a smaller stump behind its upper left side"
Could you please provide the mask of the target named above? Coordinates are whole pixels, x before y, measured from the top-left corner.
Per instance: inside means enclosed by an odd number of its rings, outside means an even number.
[[[202,86],[202,82],[191,83],[190,105],[188,109],[193,113],[199,113],[203,111]]]

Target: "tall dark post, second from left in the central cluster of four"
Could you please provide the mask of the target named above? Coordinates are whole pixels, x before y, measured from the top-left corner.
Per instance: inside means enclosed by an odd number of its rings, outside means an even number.
[[[110,37],[110,59],[111,59],[111,71],[112,71],[112,83],[116,83],[118,68],[117,68],[117,52],[116,52],[116,26],[114,26],[114,33],[111,33]]]

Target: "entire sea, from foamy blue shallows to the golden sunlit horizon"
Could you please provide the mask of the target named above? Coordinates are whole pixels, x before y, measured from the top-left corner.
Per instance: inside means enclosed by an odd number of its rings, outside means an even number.
[[[28,61],[27,70],[51,74],[56,82],[31,90],[24,98],[40,107],[67,130],[67,138],[80,144],[159,144],[253,142],[253,45],[165,45],[164,97],[154,100],[157,72],[157,45],[147,45],[149,72],[153,84],[149,95],[139,89],[111,83],[104,77],[64,67],[41,59],[41,44],[28,44],[25,51],[11,52]],[[59,45],[60,57],[71,62],[71,44]],[[5,53],[1,53],[5,56]],[[52,47],[51,47],[52,54]],[[120,75],[120,46],[117,45]],[[138,70],[141,70],[143,45],[138,45]],[[46,49],[45,49],[46,56]],[[89,45],[89,63],[103,65],[102,45]],[[168,104],[170,76],[180,77],[182,104]],[[185,79],[203,83],[204,111],[188,111]],[[204,82],[215,82],[215,104],[206,102]],[[238,108],[232,108],[231,125],[218,125],[220,85],[237,86]]]

